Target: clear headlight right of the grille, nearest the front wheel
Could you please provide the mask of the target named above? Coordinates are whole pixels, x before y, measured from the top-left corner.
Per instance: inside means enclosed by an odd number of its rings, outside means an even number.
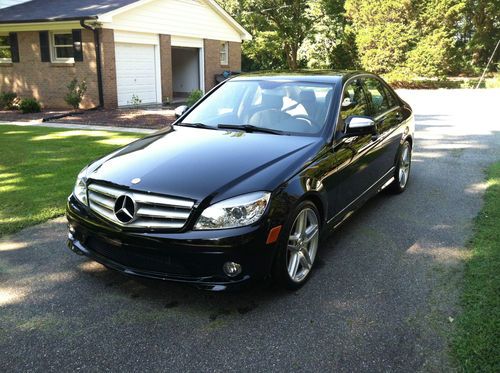
[[[259,220],[269,202],[269,192],[255,192],[209,206],[198,218],[194,229],[243,227]]]

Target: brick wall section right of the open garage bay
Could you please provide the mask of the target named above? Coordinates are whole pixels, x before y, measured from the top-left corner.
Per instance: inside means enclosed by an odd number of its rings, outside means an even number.
[[[215,86],[215,75],[225,70],[241,71],[241,43],[229,42],[229,65],[220,64],[220,40],[205,39],[205,91]]]

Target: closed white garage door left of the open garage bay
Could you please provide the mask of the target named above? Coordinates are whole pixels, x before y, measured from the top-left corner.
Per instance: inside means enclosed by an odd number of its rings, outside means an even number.
[[[157,97],[155,46],[115,44],[118,105],[132,104],[135,95],[143,104],[160,102]]]

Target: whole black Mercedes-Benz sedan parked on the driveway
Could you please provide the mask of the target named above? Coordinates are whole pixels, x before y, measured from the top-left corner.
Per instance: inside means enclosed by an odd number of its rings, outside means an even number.
[[[328,232],[408,185],[412,110],[373,74],[240,75],[176,113],[80,172],[70,249],[211,290],[267,278],[296,289]]]

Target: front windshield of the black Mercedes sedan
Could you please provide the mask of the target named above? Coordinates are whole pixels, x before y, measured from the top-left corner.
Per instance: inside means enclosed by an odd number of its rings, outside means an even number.
[[[182,123],[318,134],[325,126],[333,89],[333,84],[310,82],[229,81],[201,102]]]

